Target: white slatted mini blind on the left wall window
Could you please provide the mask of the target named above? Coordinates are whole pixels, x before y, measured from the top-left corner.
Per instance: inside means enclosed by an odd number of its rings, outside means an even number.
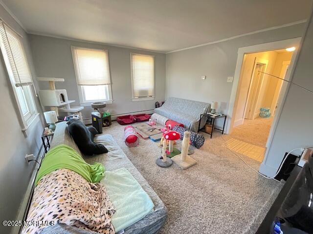
[[[0,21],[2,53],[6,53],[16,86],[33,84],[20,36]]]

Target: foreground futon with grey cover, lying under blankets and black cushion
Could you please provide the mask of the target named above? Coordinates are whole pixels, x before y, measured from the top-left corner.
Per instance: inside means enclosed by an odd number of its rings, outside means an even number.
[[[155,207],[154,212],[146,215],[141,220],[137,221],[133,225],[124,229],[125,234],[155,234],[164,225],[167,210],[161,199],[156,192],[149,186],[147,181],[141,176],[138,170],[134,167],[133,163],[124,154],[122,149],[117,145],[111,135],[98,135],[94,137],[95,142],[100,142],[105,145],[109,150],[107,154],[96,156],[84,156],[74,140],[70,137],[67,131],[66,122],[58,123],[54,132],[53,140],[51,142],[51,148],[65,144],[76,150],[80,155],[84,157],[86,162],[92,164],[94,162],[100,162],[105,166],[106,171],[114,171],[120,168],[126,168],[138,181],[143,190],[150,196]],[[113,202],[113,201],[112,201]],[[56,224],[44,229],[44,234],[61,233],[61,234],[96,234],[92,231],[86,231],[74,226],[67,226],[65,224]]]

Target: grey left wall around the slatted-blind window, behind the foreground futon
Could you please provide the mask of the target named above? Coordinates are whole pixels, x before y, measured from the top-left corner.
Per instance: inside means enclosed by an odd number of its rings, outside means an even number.
[[[35,77],[27,34],[1,5],[0,18],[22,35],[22,44],[30,71]],[[38,88],[36,83],[35,86]],[[43,131],[41,118],[37,117],[26,131],[27,137],[22,133],[21,117],[2,53],[0,53],[0,100],[0,219],[2,223],[2,220],[16,219],[34,167],[34,162],[27,164],[24,157],[26,154],[39,153]],[[41,112],[38,98],[35,97],[35,101],[38,111]],[[0,233],[9,233],[10,229],[0,225]]]

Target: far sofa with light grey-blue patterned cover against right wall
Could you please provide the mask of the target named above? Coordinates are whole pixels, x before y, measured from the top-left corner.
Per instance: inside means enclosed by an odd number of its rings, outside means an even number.
[[[161,107],[155,109],[155,113],[182,123],[185,128],[197,132],[200,115],[207,113],[209,109],[208,103],[170,97]],[[201,128],[205,125],[205,121],[206,119],[201,119]]]

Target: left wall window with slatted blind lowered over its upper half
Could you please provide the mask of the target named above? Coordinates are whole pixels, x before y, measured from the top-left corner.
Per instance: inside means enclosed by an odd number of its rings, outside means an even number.
[[[26,129],[38,115],[30,86],[29,71],[21,37],[0,20],[0,47]]]

